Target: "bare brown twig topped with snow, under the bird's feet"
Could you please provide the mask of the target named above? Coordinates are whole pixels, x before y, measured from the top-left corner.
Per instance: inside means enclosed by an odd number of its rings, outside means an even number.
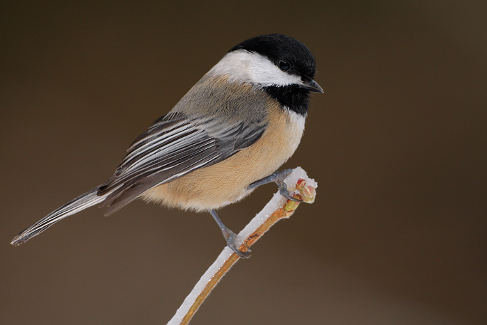
[[[314,180],[308,178],[305,171],[300,167],[294,169],[294,171],[286,178],[286,184],[292,184],[288,186],[288,190],[294,198],[301,198],[306,203],[314,202],[315,189],[317,183]],[[236,244],[240,244],[241,251],[252,246],[264,232],[269,230],[271,226],[283,218],[289,218],[294,214],[294,211],[298,207],[299,203],[287,200],[279,193],[274,194],[273,198],[266,204],[259,214],[257,214],[242,230],[235,241]],[[186,296],[182,305],[177,310],[174,317],[168,322],[167,325],[185,325],[188,324],[195,312],[200,308],[201,304],[211,290],[216,286],[216,283],[223,278],[227,271],[239,260],[239,255],[234,253],[230,248],[225,247],[215,262],[211,264],[211,267],[207,269],[205,274],[200,278],[198,283],[191,293]]]

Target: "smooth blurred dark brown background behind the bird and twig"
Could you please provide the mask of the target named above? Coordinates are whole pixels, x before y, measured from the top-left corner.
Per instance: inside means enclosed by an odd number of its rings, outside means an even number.
[[[485,1],[0,4],[0,323],[165,324],[225,245],[209,214],[95,207],[10,240],[106,180],[237,43],[317,59],[285,168],[319,182],[191,324],[485,324]],[[222,209],[241,229],[269,184]]]

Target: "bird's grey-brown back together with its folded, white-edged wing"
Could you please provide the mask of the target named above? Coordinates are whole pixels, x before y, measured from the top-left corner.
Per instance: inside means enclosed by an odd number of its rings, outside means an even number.
[[[106,214],[152,187],[248,148],[266,129],[268,100],[260,89],[205,75],[170,113],[136,138],[113,176],[99,187]]]

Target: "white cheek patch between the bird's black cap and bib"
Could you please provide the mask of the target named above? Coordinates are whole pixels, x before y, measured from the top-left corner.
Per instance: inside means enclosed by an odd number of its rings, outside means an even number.
[[[269,58],[243,49],[223,56],[209,73],[225,75],[229,81],[266,86],[302,84],[301,78],[280,70]]]

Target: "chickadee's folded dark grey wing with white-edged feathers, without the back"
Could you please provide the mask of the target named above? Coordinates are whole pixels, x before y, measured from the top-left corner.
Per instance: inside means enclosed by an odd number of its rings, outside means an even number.
[[[228,122],[223,116],[163,116],[127,150],[115,174],[98,189],[112,214],[148,189],[211,166],[257,141],[265,130],[258,119]]]

